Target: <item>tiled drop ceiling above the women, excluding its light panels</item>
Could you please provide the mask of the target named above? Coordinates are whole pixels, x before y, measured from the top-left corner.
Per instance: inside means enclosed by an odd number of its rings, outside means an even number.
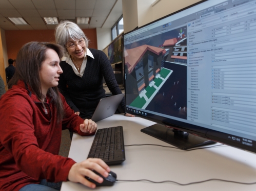
[[[111,28],[122,16],[122,0],[0,0],[0,28],[4,30],[47,30],[42,17],[75,21],[91,17],[82,29]],[[13,25],[6,17],[23,17],[29,25]]]

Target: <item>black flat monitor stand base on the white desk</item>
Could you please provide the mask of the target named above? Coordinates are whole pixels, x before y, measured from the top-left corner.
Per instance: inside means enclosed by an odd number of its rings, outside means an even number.
[[[160,140],[163,140],[168,144],[171,144],[182,150],[215,144],[215,142],[212,140],[209,140],[200,136],[195,136],[193,134],[190,134],[184,131],[168,128],[161,124],[155,124],[155,125],[146,127],[142,129],[141,132],[146,133],[155,138],[158,138]]]

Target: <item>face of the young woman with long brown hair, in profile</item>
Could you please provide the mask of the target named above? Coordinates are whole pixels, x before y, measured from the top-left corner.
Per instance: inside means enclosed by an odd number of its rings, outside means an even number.
[[[46,93],[50,87],[58,85],[58,78],[62,74],[62,68],[60,66],[60,58],[58,54],[52,50],[47,49],[46,59],[42,62],[40,74],[42,93],[46,96]]]

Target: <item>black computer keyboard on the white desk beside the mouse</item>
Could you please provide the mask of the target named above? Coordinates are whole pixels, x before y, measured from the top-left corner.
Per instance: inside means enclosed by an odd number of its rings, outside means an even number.
[[[125,160],[123,127],[109,127],[96,131],[88,158],[101,158],[108,165]]]

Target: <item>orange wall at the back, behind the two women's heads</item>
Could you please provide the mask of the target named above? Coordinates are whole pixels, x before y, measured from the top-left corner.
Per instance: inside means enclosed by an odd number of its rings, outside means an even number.
[[[84,29],[84,33],[90,40],[89,47],[97,49],[96,29]],[[8,59],[16,59],[21,47],[30,41],[54,42],[54,30],[15,30],[5,31]]]

